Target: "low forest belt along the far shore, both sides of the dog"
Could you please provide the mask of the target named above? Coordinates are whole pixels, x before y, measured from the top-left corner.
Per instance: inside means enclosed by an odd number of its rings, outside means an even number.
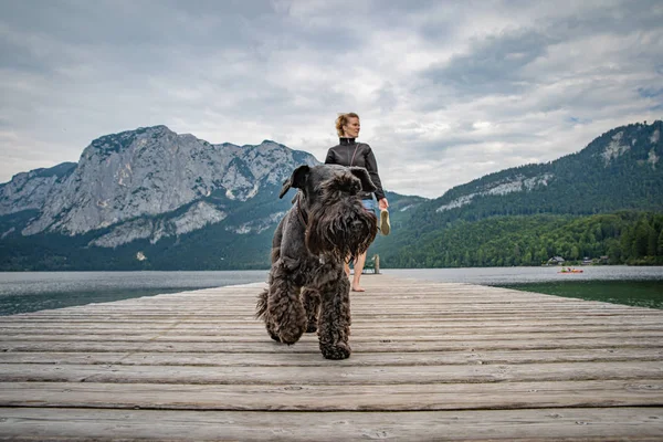
[[[527,266],[554,256],[663,265],[661,213],[493,217],[456,221],[425,234],[402,229],[407,222],[414,221],[394,217],[394,234],[371,246],[369,254],[379,253],[382,267]],[[229,236],[222,225],[213,225],[183,236],[116,249],[87,246],[91,235],[12,236],[0,241],[0,271],[269,269],[271,230]],[[138,261],[137,252],[147,260]]]

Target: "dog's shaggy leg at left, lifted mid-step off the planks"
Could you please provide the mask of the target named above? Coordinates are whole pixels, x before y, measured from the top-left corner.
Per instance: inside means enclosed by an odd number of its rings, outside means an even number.
[[[299,298],[302,284],[295,283],[298,263],[282,257],[272,266],[270,292],[267,295],[267,316],[273,333],[283,344],[295,344],[306,332],[306,311]],[[267,330],[270,330],[267,326]]]

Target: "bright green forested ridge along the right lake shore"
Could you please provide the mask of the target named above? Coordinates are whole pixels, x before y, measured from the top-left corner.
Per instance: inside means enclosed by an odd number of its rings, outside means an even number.
[[[663,214],[620,211],[612,214],[495,217],[457,221],[408,244],[377,253],[385,267],[473,267],[541,265],[561,256],[579,262],[608,256],[608,264],[663,264]]]

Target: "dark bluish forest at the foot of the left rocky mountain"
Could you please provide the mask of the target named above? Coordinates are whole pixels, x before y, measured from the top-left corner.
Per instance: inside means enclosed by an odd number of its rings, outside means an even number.
[[[221,231],[221,232],[220,232]],[[257,270],[270,266],[271,231],[257,235],[201,229],[156,244],[133,241],[115,249],[88,245],[92,234],[54,233],[0,241],[0,272]],[[146,260],[138,260],[140,252]]]

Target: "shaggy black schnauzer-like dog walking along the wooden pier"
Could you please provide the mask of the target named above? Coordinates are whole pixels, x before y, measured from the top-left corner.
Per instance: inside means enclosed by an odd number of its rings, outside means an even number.
[[[259,296],[256,317],[272,339],[288,345],[317,329],[323,356],[345,359],[350,283],[344,262],[376,238],[377,219],[359,198],[376,187],[366,169],[333,165],[298,167],[278,198],[291,187],[299,190],[274,233],[270,287]]]

